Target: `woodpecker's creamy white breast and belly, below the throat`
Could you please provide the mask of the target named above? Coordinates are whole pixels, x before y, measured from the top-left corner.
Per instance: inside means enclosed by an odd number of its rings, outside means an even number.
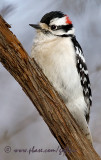
[[[61,95],[65,103],[84,103],[80,77],[76,69],[75,50],[71,39],[56,37],[35,41],[31,56]],[[81,107],[81,104],[77,104]]]

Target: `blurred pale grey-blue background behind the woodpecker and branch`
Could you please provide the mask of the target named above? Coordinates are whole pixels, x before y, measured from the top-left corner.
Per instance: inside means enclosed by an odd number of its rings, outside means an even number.
[[[68,14],[81,44],[93,92],[90,129],[94,148],[101,156],[101,0],[0,0],[0,14],[11,25],[30,55],[37,23],[52,10]],[[11,151],[6,153],[6,146]],[[57,149],[58,143],[14,78],[0,64],[0,158],[2,160],[66,160],[55,153],[14,152],[14,149]],[[8,149],[9,150],[9,149]]]

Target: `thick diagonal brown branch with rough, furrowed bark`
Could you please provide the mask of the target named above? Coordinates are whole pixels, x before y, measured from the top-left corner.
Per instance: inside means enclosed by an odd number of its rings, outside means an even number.
[[[0,61],[30,98],[69,160],[100,160],[36,62],[0,17]]]

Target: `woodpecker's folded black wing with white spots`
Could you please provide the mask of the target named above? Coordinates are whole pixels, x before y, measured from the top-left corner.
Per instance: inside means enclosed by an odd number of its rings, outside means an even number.
[[[88,107],[88,113],[85,113],[85,117],[88,122],[90,106],[92,105],[91,85],[90,85],[88,70],[87,70],[87,66],[85,63],[85,58],[83,55],[82,48],[77,42],[75,37],[72,37],[72,42],[74,44],[74,48],[76,52],[76,66],[77,66],[78,73],[80,75],[81,85],[83,88],[83,95],[84,95],[85,102]]]

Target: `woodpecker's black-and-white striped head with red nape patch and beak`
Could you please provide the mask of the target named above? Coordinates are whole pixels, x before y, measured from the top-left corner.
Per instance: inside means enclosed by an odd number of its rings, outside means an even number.
[[[38,25],[31,24],[44,34],[63,36],[74,34],[74,28],[67,15],[60,11],[52,11],[45,14]]]

